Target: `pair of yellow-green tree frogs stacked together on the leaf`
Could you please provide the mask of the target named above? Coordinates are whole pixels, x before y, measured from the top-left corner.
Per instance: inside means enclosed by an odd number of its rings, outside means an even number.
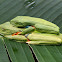
[[[62,34],[56,24],[41,18],[17,16],[0,25],[0,35],[28,44],[53,45],[62,43]]]

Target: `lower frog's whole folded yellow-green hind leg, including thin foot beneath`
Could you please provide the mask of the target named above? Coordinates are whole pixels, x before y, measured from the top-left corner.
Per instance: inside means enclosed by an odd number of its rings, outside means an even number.
[[[32,33],[27,38],[30,40],[28,44],[59,44],[62,42],[58,35],[54,34]]]

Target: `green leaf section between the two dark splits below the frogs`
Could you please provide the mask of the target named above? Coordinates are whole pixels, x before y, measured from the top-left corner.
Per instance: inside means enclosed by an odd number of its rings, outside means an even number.
[[[27,44],[5,39],[5,44],[12,62],[34,62]]]

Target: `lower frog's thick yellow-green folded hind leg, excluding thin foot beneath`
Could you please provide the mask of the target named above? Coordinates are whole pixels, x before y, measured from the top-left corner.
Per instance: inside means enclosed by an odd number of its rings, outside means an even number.
[[[32,33],[27,37],[31,41],[54,41],[54,42],[61,42],[61,39],[54,34],[36,34]]]

